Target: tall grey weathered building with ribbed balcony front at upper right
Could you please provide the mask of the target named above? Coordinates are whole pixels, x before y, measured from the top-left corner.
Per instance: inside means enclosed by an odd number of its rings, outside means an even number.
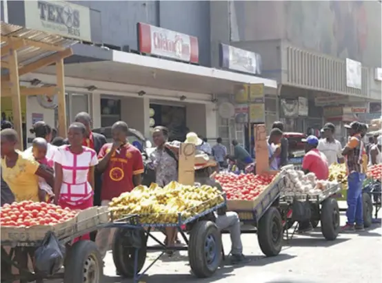
[[[318,133],[333,120],[325,108],[338,107],[344,135],[344,123],[368,122],[371,105],[381,105],[381,3],[227,1],[212,3],[211,17],[212,42],[260,54],[261,75],[279,84],[287,131]],[[213,65],[217,58],[212,50]]]

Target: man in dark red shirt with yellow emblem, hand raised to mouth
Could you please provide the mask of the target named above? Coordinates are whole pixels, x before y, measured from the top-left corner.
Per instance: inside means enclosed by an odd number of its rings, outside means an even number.
[[[130,145],[126,138],[128,125],[118,121],[112,125],[114,143],[106,143],[99,151],[97,168],[103,172],[101,189],[101,205],[108,206],[112,198],[121,193],[132,191],[141,185],[143,174],[143,160],[141,151]],[[115,229],[101,229],[97,233],[96,244],[102,258],[105,257],[114,235]]]

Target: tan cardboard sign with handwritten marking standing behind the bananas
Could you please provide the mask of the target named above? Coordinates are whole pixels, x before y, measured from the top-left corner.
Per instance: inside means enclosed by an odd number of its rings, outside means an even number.
[[[179,149],[178,181],[182,185],[194,185],[195,182],[195,145],[181,143]]]

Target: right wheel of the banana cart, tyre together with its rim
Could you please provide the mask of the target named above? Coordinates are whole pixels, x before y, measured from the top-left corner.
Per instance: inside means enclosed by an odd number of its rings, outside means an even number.
[[[194,224],[188,244],[188,259],[194,275],[210,277],[221,262],[221,233],[212,221]]]

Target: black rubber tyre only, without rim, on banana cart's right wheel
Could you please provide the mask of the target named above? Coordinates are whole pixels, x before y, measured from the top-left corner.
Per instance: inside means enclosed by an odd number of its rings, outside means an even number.
[[[204,255],[205,238],[214,235],[216,242],[216,264],[212,268],[207,266]],[[194,275],[198,278],[211,277],[221,264],[221,233],[212,221],[198,221],[192,227],[188,242],[188,260]]]

